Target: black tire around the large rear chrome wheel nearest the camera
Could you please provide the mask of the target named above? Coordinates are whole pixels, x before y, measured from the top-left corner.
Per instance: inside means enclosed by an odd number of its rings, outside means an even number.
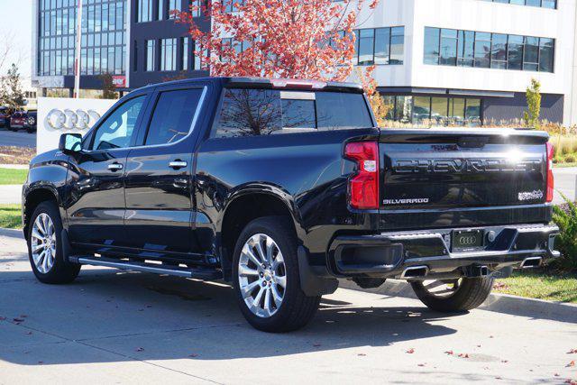
[[[240,288],[238,271],[241,252],[244,243],[255,234],[265,234],[277,243],[286,268],[286,289],[282,303],[276,313],[269,317],[261,317],[252,313],[244,302]],[[286,333],[307,325],[315,316],[321,297],[307,297],[300,288],[297,248],[297,236],[294,234],[289,218],[284,216],[266,216],[255,219],[246,225],[239,236],[234,248],[234,290],[243,316],[255,329],[268,333]]]

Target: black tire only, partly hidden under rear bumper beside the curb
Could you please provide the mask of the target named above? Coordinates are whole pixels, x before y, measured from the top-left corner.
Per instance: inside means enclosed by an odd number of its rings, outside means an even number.
[[[444,313],[463,313],[485,302],[493,289],[493,278],[463,278],[459,289],[447,298],[432,295],[421,281],[411,282],[411,286],[426,307]]]

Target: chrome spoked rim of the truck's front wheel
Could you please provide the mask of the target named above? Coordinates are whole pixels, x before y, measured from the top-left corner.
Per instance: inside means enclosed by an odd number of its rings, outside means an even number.
[[[56,230],[48,214],[41,213],[36,217],[30,243],[36,269],[42,274],[48,273],[56,259]]]

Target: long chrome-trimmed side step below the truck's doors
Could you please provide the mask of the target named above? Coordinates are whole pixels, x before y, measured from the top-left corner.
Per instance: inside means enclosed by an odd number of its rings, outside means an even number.
[[[197,280],[221,280],[223,274],[215,269],[190,269],[181,266],[169,266],[156,263],[146,263],[139,261],[127,261],[105,257],[78,257],[71,256],[69,261],[82,265],[104,266],[120,270],[133,270],[151,272],[154,274],[165,274],[183,278],[195,278]]]

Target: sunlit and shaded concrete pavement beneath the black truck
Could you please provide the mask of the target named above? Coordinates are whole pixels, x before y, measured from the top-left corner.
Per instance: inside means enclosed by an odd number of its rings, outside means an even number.
[[[577,325],[339,289],[287,335],[247,325],[218,282],[85,269],[34,280],[0,230],[0,383],[563,383]],[[565,320],[566,321],[566,320]]]

